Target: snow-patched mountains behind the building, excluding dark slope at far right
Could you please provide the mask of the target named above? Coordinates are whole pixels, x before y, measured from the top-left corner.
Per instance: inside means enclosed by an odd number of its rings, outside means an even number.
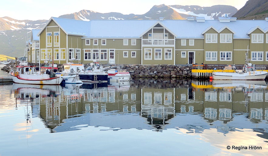
[[[143,15],[123,15],[118,12],[100,13],[91,10],[81,10],[79,12],[59,16],[60,18],[90,21],[93,19],[105,20],[126,20],[126,19],[185,19],[187,17],[205,17],[205,19],[218,19],[218,17],[228,14],[234,15],[237,9],[229,5],[214,5],[211,7],[201,7],[197,5],[154,5]],[[25,49],[26,40],[30,39],[31,33],[28,29],[42,29],[47,20],[16,20],[10,17],[0,17],[0,54],[11,57],[21,56]],[[22,30],[23,29],[23,30]]]

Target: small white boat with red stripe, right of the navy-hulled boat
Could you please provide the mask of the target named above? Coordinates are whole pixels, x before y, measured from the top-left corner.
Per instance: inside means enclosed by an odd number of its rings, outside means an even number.
[[[109,69],[107,72],[111,82],[127,82],[132,80],[127,70]]]

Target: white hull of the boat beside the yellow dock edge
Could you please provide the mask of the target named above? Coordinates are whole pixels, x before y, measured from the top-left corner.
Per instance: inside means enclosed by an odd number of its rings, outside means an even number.
[[[213,80],[264,80],[266,71],[254,71],[247,73],[213,72]]]

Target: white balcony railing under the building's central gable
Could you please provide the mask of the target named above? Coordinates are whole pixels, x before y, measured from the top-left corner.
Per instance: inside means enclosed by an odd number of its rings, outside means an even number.
[[[142,46],[174,46],[174,39],[142,39]]]

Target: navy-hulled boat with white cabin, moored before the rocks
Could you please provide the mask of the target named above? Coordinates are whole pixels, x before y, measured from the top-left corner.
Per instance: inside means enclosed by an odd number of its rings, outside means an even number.
[[[108,73],[103,70],[100,62],[90,63],[90,66],[83,72],[79,72],[78,75],[83,83],[108,83]]]

